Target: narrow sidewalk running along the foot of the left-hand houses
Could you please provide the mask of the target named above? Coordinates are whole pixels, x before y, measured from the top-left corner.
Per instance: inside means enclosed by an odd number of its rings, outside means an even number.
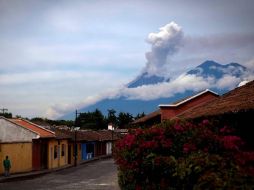
[[[101,159],[107,159],[107,158],[111,158],[111,157],[112,157],[111,155],[104,155],[104,156],[98,156],[98,157],[92,158],[90,160],[84,160],[84,161],[81,161],[80,163],[78,163],[77,167],[79,165],[82,165],[82,164],[86,164],[86,163],[89,163],[89,162],[94,162],[94,161],[101,160]],[[71,167],[74,167],[74,166],[69,164],[69,165],[66,165],[66,166],[63,166],[63,167],[60,167],[60,168],[44,169],[44,170],[40,170],[40,171],[32,171],[32,172],[26,172],[26,173],[11,174],[9,177],[5,177],[5,176],[1,175],[0,176],[0,183],[15,181],[15,180],[31,179],[31,178],[39,177],[41,175],[45,175],[45,174],[48,174],[48,173],[64,170],[64,169],[71,168]]]

